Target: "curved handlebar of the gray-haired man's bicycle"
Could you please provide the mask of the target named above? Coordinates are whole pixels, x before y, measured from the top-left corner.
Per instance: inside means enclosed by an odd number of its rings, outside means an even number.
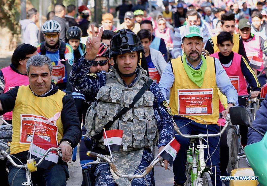
[[[49,148],[48,150],[45,151],[45,153],[42,156],[42,158],[40,158],[40,160],[38,161],[38,163],[36,163],[34,165],[34,167],[38,167],[43,162],[43,160],[45,159],[46,155],[48,155],[49,152],[51,152],[53,150],[57,151],[58,152],[58,155],[61,156],[61,148],[59,148],[59,147],[51,147],[51,148]],[[17,168],[23,168],[23,167],[28,168],[27,164],[18,165],[17,163],[15,163],[15,161],[11,158],[11,156],[6,151],[4,151],[4,150],[1,150],[0,151],[0,155],[4,155],[4,157],[6,157],[10,161],[10,163],[13,166],[17,167]]]

